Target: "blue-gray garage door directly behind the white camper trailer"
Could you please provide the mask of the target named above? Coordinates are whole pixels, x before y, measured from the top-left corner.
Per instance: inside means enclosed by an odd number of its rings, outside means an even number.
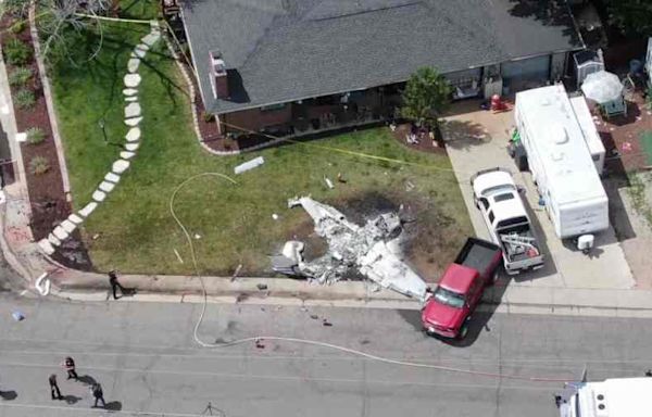
[[[550,79],[550,55],[526,58],[501,64],[503,93],[514,92],[544,85]]]

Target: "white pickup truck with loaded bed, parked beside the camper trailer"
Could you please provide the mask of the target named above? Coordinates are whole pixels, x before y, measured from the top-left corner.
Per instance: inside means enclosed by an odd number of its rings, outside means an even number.
[[[484,169],[471,178],[476,207],[482,213],[491,239],[501,247],[510,275],[543,266],[543,254],[512,174]]]

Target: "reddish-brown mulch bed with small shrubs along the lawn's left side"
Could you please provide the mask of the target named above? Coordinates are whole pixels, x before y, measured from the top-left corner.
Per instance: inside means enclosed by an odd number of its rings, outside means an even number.
[[[4,16],[4,18],[0,21],[0,30],[2,30],[3,34],[11,34],[9,27],[12,26],[13,23],[14,21],[11,17]],[[32,48],[29,27],[26,27],[18,34],[3,36],[2,45],[4,46],[14,37]],[[15,70],[15,66],[7,62],[5,64],[8,74],[11,74],[12,71]],[[52,228],[64,220],[72,213],[72,206],[66,201],[63,191],[63,180],[61,177],[59,160],[57,157],[57,147],[52,137],[50,117],[48,115],[46,99],[43,97],[43,90],[40,84],[38,66],[34,56],[25,66],[33,71],[34,76],[28,85],[24,86],[23,88],[32,90],[35,94],[36,101],[34,106],[30,109],[20,109],[14,104],[17,130],[26,131],[29,128],[38,127],[46,135],[45,141],[41,143],[21,143],[27,190],[29,192],[29,201],[32,205],[32,233],[34,239],[38,241],[47,238],[47,236],[52,231]],[[11,86],[13,98],[15,98],[15,94],[21,88],[17,86]],[[50,168],[47,173],[34,175],[30,172],[29,161],[32,161],[35,156],[43,156],[48,160]],[[66,266],[85,269],[90,267],[88,253],[82,244],[78,230],[75,230],[72,237],[64,244],[62,244],[60,250],[58,250],[52,257]]]

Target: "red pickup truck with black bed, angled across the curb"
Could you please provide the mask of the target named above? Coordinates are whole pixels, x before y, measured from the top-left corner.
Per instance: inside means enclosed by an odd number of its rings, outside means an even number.
[[[485,287],[494,282],[501,262],[500,247],[468,238],[422,311],[424,330],[430,336],[464,338],[471,315]]]

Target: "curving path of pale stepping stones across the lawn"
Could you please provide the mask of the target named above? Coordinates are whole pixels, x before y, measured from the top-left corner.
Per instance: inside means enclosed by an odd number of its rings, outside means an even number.
[[[92,193],[92,200],[86,206],[79,210],[77,213],[73,213],[67,219],[63,220],[57,226],[52,232],[46,238],[38,242],[39,248],[48,255],[53,254],[57,248],[70,237],[70,235],[82,224],[90,214],[101,204],[113,191],[113,189],[120,182],[121,175],[129,168],[130,162],[128,160],[136,156],[136,152],[140,147],[140,123],[142,122],[142,111],[140,103],[138,102],[138,86],[142,80],[138,68],[140,67],[140,60],[142,60],[150,48],[161,39],[161,28],[159,23],[155,21],[150,22],[151,30],[148,35],[140,39],[141,43],[138,43],[131,51],[129,61],[127,62],[127,74],[124,77],[125,89],[123,94],[125,96],[125,125],[129,126],[129,131],[125,136],[127,143],[125,144],[126,151],[120,153],[120,160],[116,160],[111,166],[111,172],[106,173],[104,179]]]

